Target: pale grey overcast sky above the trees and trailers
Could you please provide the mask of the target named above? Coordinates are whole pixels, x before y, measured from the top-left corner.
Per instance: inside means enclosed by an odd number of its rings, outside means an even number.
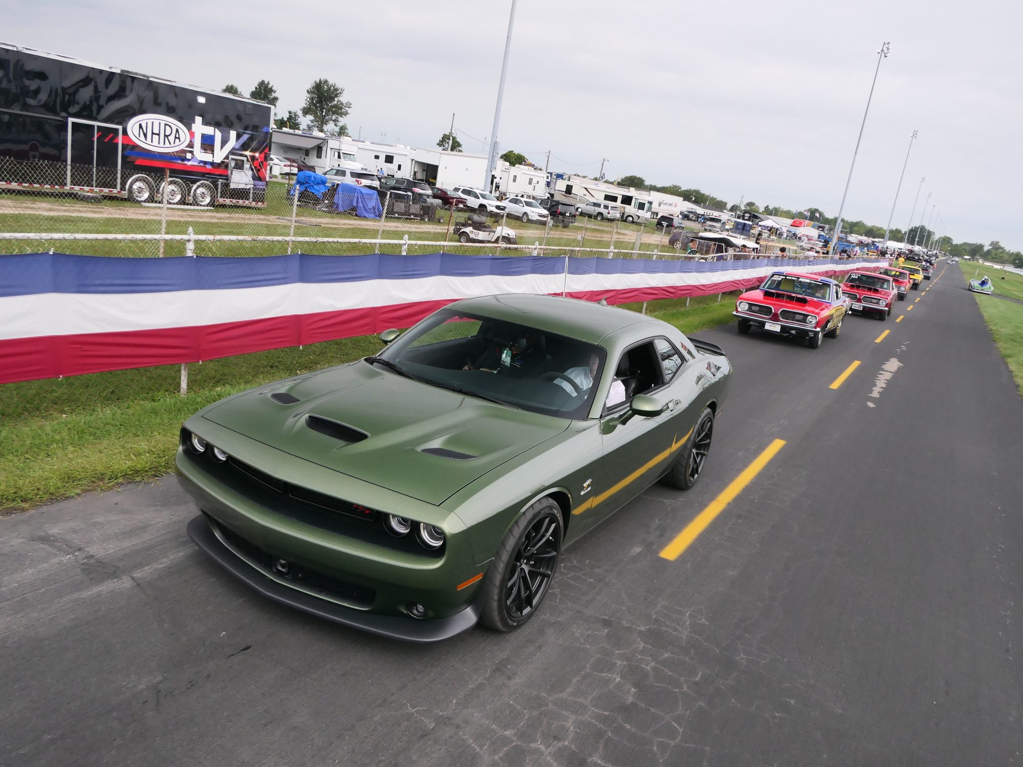
[[[300,109],[326,77],[353,136],[433,146],[455,112],[466,151],[491,133],[510,0],[0,0],[6,42]],[[1023,4],[589,0],[518,5],[498,139],[550,169],[698,187],[838,213],[877,51],[844,218],[893,227],[923,184],[955,240],[1023,250]],[[931,216],[930,207],[926,211]],[[925,222],[927,223],[926,219]]]

